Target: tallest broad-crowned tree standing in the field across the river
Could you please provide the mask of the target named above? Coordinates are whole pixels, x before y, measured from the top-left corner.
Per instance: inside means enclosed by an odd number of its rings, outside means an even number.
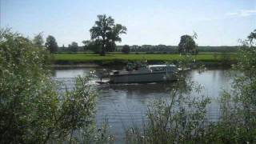
[[[102,44],[101,55],[105,55],[106,51],[115,49],[115,42],[121,42],[120,34],[126,34],[126,26],[114,24],[114,19],[107,17],[106,14],[98,15],[98,20],[90,29],[90,37]]]

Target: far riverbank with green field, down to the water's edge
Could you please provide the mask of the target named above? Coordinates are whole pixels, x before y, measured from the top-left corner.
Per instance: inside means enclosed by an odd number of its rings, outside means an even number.
[[[52,62],[55,66],[97,67],[126,66],[128,62],[144,62],[149,65],[166,62],[178,64],[185,55],[180,54],[54,54]],[[231,66],[236,63],[236,54],[197,54],[192,55],[195,65]]]

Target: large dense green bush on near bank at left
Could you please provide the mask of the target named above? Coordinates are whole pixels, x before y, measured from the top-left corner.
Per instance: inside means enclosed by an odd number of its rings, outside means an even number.
[[[21,34],[0,31],[0,143],[102,140],[104,131],[94,124],[97,94],[90,77],[78,77],[73,90],[58,92],[47,58],[47,51]]]

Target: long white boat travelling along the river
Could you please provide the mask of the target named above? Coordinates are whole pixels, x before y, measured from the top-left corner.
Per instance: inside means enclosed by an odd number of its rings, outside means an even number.
[[[177,79],[175,65],[150,65],[136,70],[110,71],[110,83],[166,82]]]

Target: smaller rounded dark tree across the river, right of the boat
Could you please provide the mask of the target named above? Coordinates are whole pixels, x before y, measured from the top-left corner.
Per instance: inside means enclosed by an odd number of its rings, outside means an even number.
[[[180,54],[193,54],[196,52],[197,44],[194,42],[194,39],[197,38],[197,34],[193,36],[182,35],[181,41],[178,43],[178,52]]]

